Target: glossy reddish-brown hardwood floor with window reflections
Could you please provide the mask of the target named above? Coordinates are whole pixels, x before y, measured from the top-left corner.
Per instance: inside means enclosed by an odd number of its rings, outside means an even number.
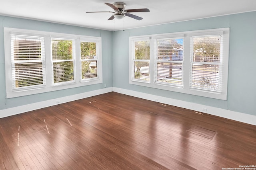
[[[256,165],[256,126],[115,92],[0,119],[1,170],[244,165]]]

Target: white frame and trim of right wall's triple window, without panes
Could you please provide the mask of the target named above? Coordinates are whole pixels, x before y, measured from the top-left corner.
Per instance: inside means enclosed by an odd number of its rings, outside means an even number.
[[[220,92],[214,92],[210,90],[202,90],[202,89],[196,89],[190,87],[190,74],[192,74],[191,71],[191,48],[190,48],[190,41],[192,36],[204,36],[204,35],[216,35],[216,34],[222,34],[223,36],[223,42],[222,42],[222,88]],[[215,98],[220,100],[227,100],[227,88],[228,88],[228,57],[229,57],[229,33],[230,28],[217,28],[217,29],[205,29],[205,30],[195,30],[195,31],[183,31],[183,32],[175,32],[175,33],[164,33],[164,34],[154,34],[154,35],[144,35],[144,36],[132,36],[129,38],[130,41],[130,63],[129,63],[129,83],[139,86],[146,86],[150,88],[157,88],[162,90],[168,90],[173,92],[180,92],[184,94],[192,94],[196,96],[203,96],[208,98]],[[148,37],[150,39],[150,73],[151,73],[151,79],[150,83],[144,83],[144,82],[136,82],[131,79],[132,75],[132,51],[134,50],[132,47],[132,41],[137,39],[143,39],[144,37]],[[165,39],[165,38],[182,38],[183,37],[183,74],[182,74],[182,81],[183,86],[173,86],[169,84],[161,84],[154,82],[155,76],[157,76],[157,70],[156,70],[156,45],[155,41],[156,39]]]

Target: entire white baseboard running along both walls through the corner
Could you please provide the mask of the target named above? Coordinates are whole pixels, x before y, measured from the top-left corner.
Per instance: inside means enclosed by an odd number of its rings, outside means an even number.
[[[195,103],[191,103],[191,102],[185,102],[182,100],[175,100],[175,99],[166,98],[166,97],[162,97],[162,96],[156,96],[156,95],[152,95],[152,94],[136,92],[133,90],[126,90],[126,89],[115,88],[115,87],[103,88],[100,90],[94,90],[91,92],[75,94],[75,95],[66,96],[63,98],[56,98],[56,99],[46,100],[43,102],[37,102],[37,103],[28,104],[28,105],[24,105],[24,106],[3,109],[3,110],[0,110],[0,118],[8,117],[11,115],[16,115],[16,114],[24,113],[27,111],[36,110],[36,109],[41,109],[44,107],[54,106],[54,105],[58,105],[58,104],[66,103],[66,102],[72,102],[74,100],[88,98],[91,96],[96,96],[96,95],[100,95],[100,94],[104,94],[104,93],[108,93],[108,92],[117,92],[117,93],[121,93],[121,94],[126,94],[126,95],[134,96],[137,98],[142,98],[142,99],[151,100],[154,102],[159,102],[159,103],[168,104],[168,105],[172,105],[172,106],[182,107],[182,108],[191,109],[191,110],[195,110],[195,111],[200,111],[200,112],[208,113],[211,115],[216,115],[219,117],[224,117],[224,118],[231,119],[231,120],[240,121],[240,122],[248,123],[251,125],[256,125],[256,116],[255,115],[250,115],[250,114],[246,114],[246,113],[230,111],[227,109],[221,109],[218,107],[205,106],[202,104],[195,104]],[[56,103],[57,100],[59,101],[58,103]],[[206,110],[202,110],[203,108]]]

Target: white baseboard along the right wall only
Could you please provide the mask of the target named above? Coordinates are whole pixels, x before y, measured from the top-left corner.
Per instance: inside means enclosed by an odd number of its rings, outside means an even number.
[[[175,99],[171,99],[171,98],[156,96],[156,95],[142,93],[142,92],[136,92],[136,91],[132,91],[132,90],[126,90],[126,89],[122,89],[122,88],[114,87],[113,91],[117,92],[117,93],[121,93],[121,94],[126,94],[129,96],[134,96],[137,98],[142,98],[142,99],[151,100],[154,102],[159,102],[159,103],[168,104],[168,105],[172,105],[172,106],[182,107],[182,108],[191,109],[191,110],[195,110],[195,111],[200,111],[203,113],[208,113],[211,115],[216,115],[216,116],[224,117],[224,118],[231,119],[231,120],[240,121],[240,122],[248,123],[251,125],[256,125],[256,116],[255,115],[240,113],[240,112],[231,111],[231,110],[227,110],[227,109],[221,109],[218,107],[205,106],[202,104],[185,102],[182,100],[175,100]]]

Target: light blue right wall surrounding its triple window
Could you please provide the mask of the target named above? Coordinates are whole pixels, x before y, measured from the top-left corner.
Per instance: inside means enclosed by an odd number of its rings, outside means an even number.
[[[129,36],[222,27],[230,27],[228,99],[226,101],[129,84]],[[256,115],[256,12],[115,31],[113,33],[113,86]]]

